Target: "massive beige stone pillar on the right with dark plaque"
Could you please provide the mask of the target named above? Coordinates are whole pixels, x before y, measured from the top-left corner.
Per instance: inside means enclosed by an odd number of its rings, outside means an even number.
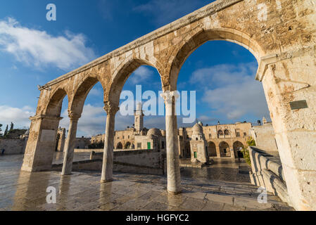
[[[257,79],[265,89],[291,205],[316,210],[315,50],[266,56]]]

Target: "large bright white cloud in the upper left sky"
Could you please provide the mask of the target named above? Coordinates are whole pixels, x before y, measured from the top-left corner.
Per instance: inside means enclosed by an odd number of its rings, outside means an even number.
[[[14,18],[0,21],[0,51],[36,68],[54,65],[70,70],[88,63],[96,56],[85,43],[83,34],[65,32],[64,36],[53,37],[45,31],[23,27]]]

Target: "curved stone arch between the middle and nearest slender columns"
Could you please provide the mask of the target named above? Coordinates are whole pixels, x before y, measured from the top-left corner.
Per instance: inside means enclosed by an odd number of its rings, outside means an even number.
[[[158,63],[155,64],[158,65]],[[158,74],[160,75],[160,80],[163,84],[163,80],[161,78],[162,70],[160,69],[160,67],[156,67],[155,64],[149,62],[148,60],[139,58],[130,58],[121,63],[120,66],[113,72],[113,78],[110,84],[110,88],[106,91],[106,97],[108,98],[106,101],[110,101],[115,104],[118,104],[120,102],[120,93],[122,92],[124,84],[126,83],[129,76],[132,75],[132,73],[141,65],[149,65],[155,68],[158,71]]]

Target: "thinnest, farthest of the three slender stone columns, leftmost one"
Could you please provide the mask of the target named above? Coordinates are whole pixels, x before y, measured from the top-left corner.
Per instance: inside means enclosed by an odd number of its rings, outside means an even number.
[[[72,172],[73,150],[77,136],[77,124],[81,115],[69,112],[70,124],[68,129],[68,138],[65,143],[63,155],[63,171],[61,175],[70,175]]]

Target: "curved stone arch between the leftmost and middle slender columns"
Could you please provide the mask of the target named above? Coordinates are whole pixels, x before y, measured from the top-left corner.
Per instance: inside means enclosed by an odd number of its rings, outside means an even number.
[[[104,92],[104,85],[102,84],[101,79],[96,76],[89,75],[88,77],[82,79],[82,81],[77,85],[77,89],[75,89],[74,96],[70,102],[70,110],[73,113],[81,115],[84,108],[84,102],[86,101],[89,92],[98,82],[101,83]]]

